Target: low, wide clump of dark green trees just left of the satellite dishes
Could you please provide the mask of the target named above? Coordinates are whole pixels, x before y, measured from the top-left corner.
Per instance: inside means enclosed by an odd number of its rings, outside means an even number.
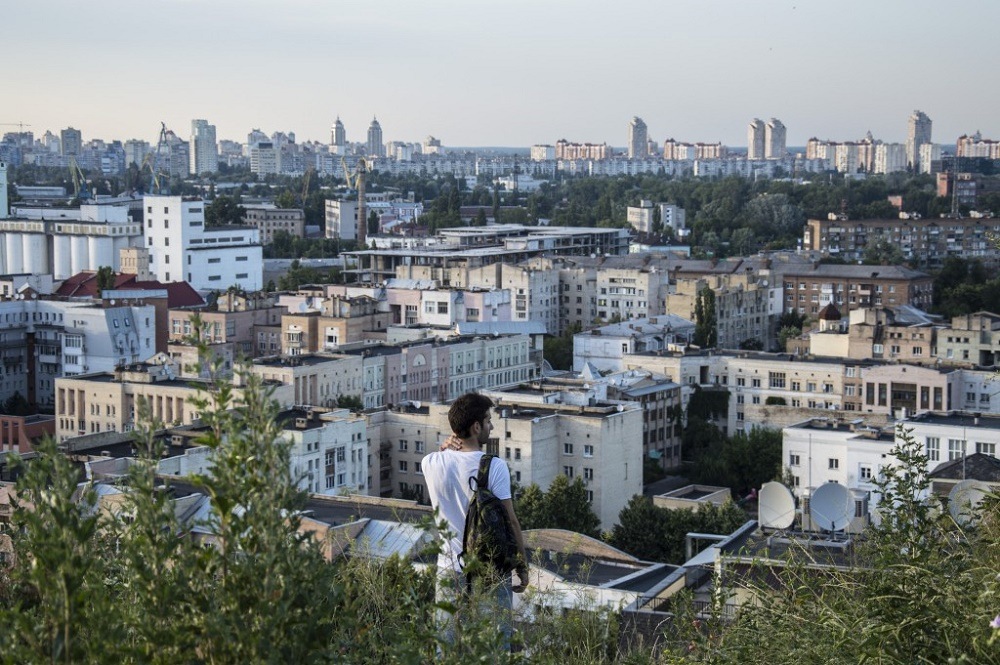
[[[608,542],[645,561],[683,563],[688,533],[729,534],[747,521],[732,501],[705,504],[697,510],[653,505],[648,496],[632,497],[618,515]]]

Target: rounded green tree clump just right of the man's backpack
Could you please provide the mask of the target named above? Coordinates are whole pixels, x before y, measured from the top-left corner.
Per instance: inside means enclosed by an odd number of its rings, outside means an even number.
[[[601,521],[590,507],[581,478],[570,482],[559,474],[544,492],[538,485],[528,485],[514,507],[522,529],[566,529],[592,537],[600,534]]]

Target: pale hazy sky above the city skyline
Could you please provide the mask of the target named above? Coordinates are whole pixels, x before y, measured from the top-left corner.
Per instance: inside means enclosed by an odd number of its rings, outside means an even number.
[[[742,146],[755,116],[902,142],[920,109],[935,142],[997,139],[998,25],[998,0],[2,0],[0,123],[621,146],[638,115]]]

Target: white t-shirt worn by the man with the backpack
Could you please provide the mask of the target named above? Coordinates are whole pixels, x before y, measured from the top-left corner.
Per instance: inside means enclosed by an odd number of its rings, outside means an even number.
[[[462,553],[465,514],[472,499],[469,479],[479,474],[482,451],[440,450],[424,457],[421,469],[427,482],[431,506],[448,523],[450,534],[442,538],[438,555],[438,570],[461,570],[458,555]],[[489,488],[501,501],[510,496],[510,470],[499,457],[490,463]],[[443,534],[442,534],[443,535]]]

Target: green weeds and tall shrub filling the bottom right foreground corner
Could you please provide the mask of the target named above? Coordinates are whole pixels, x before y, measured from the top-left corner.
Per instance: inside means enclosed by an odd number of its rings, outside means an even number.
[[[752,610],[724,630],[690,634],[695,655],[685,660],[1000,661],[990,627],[1000,595],[996,504],[976,528],[963,528],[933,507],[923,446],[905,429],[897,430],[892,458],[877,481],[882,521],[860,541],[853,565],[817,574],[790,560],[751,583]]]

